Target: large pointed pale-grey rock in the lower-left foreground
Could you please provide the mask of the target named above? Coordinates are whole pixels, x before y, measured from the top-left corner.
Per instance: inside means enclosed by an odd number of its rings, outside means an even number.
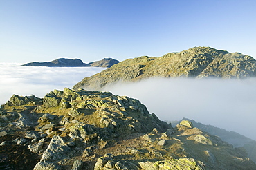
[[[70,154],[70,147],[68,147],[66,142],[60,136],[54,135],[46,151],[44,151],[41,161],[60,160],[63,158],[68,158]]]

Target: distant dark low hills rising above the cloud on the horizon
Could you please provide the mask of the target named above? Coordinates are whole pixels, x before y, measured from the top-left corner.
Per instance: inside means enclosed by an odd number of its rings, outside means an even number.
[[[111,67],[113,64],[119,63],[116,59],[104,58],[100,61],[90,62],[88,64],[82,62],[81,59],[55,59],[51,62],[31,62],[22,66],[48,66],[48,67]]]

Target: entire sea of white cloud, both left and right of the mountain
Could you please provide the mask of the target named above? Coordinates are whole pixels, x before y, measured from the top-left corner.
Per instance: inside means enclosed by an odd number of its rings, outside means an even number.
[[[54,89],[74,84],[105,68],[33,67],[0,63],[0,104],[12,94],[44,97]],[[104,91],[134,97],[161,120],[211,124],[256,140],[256,79],[165,79],[118,83]]]

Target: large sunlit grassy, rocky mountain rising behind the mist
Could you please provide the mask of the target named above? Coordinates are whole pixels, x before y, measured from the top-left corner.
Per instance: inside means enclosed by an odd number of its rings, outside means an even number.
[[[256,61],[241,53],[228,53],[210,47],[194,47],[163,57],[126,59],[101,73],[85,77],[73,88],[99,90],[116,82],[133,82],[148,77],[220,77],[256,76]]]

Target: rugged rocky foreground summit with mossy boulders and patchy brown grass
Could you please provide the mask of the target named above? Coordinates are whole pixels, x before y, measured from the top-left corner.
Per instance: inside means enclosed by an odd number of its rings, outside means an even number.
[[[109,92],[12,95],[0,126],[0,169],[256,169],[246,149]]]

